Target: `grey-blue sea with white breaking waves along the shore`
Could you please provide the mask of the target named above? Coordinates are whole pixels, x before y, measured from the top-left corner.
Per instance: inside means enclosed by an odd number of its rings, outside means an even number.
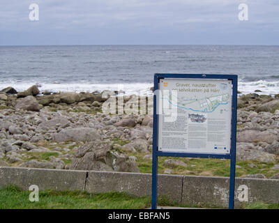
[[[0,46],[0,90],[150,93],[154,73],[238,75],[241,93],[279,93],[279,46]]]

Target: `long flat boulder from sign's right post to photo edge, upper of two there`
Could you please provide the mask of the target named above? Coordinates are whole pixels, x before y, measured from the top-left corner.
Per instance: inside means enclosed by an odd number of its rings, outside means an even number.
[[[257,131],[257,130],[244,130],[237,132],[236,140],[239,142],[257,142],[265,141],[268,144],[272,144],[274,140],[277,140],[278,136],[268,131]]]

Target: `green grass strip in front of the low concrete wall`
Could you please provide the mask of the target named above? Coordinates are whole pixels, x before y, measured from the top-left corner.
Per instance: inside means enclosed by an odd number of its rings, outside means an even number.
[[[91,194],[80,191],[39,192],[39,201],[29,201],[29,191],[12,185],[0,189],[0,209],[142,209],[151,206],[151,197],[134,197],[123,192]],[[158,197],[158,206],[179,207],[164,197]],[[220,208],[209,203],[181,206],[188,208]],[[279,209],[279,204],[243,203],[243,209]]]

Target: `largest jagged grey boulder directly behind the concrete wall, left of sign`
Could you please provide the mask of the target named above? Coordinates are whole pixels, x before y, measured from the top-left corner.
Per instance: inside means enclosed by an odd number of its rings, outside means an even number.
[[[89,142],[78,148],[70,169],[139,172],[134,157],[101,141]]]

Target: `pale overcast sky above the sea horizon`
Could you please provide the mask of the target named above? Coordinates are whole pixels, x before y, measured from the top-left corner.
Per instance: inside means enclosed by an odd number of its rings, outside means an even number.
[[[279,45],[279,0],[1,0],[0,45]],[[29,5],[39,21],[29,20]],[[248,21],[238,6],[248,5]]]

